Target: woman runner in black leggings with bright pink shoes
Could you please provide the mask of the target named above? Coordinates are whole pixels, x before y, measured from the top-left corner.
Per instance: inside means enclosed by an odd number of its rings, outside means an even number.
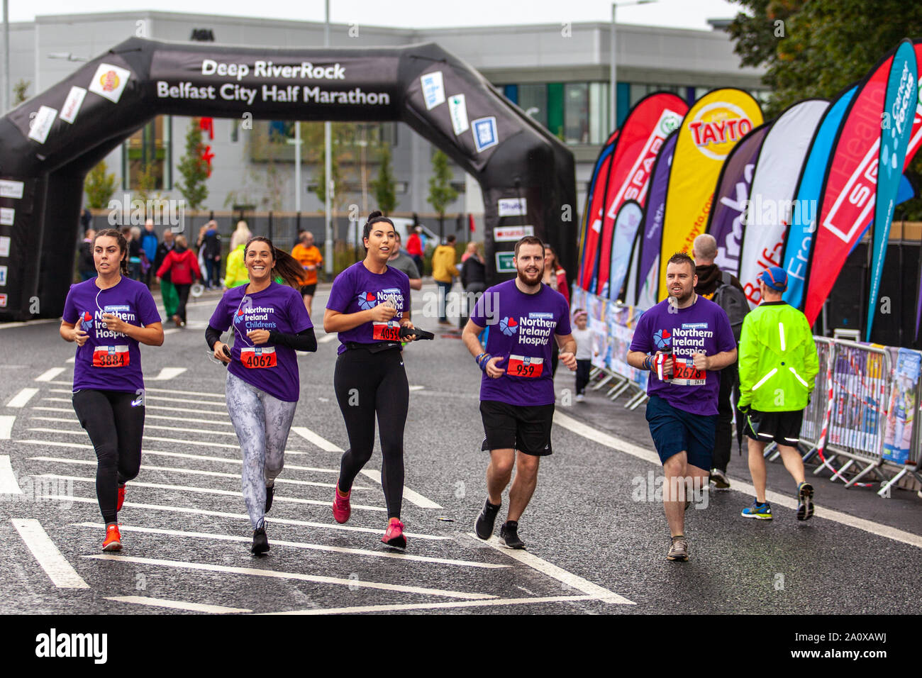
[[[396,247],[394,224],[372,212],[364,229],[365,258],[333,281],[326,303],[324,329],[339,334],[339,357],[333,385],[349,433],[349,449],[339,465],[333,517],[349,520],[352,482],[370,458],[377,414],[384,463],[381,484],[387,504],[387,529],[381,541],[406,548],[400,522],[403,502],[403,434],[407,423],[409,387],[400,355],[400,328],[413,328],[407,274],[389,268]]]

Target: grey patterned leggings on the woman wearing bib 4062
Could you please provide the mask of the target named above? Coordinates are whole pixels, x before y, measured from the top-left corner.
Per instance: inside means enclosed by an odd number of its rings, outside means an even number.
[[[259,529],[266,517],[266,485],[285,466],[285,444],[298,403],[273,398],[230,372],[225,392],[243,450],[243,501],[253,529]]]

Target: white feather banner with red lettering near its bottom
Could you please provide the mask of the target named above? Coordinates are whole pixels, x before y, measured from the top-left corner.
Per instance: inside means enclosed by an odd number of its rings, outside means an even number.
[[[751,197],[743,214],[739,282],[751,308],[762,301],[759,274],[784,264],[787,225],[791,223],[798,176],[810,141],[829,101],[809,99],[786,109],[765,136],[752,177]]]

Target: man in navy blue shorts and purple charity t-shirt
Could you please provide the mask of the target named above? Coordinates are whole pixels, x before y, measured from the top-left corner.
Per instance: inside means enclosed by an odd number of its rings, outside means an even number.
[[[695,293],[697,282],[691,256],[669,258],[669,296],[641,315],[627,357],[632,367],[652,370],[646,421],[666,476],[663,508],[672,536],[666,557],[680,561],[689,559],[688,485],[706,487],[711,470],[719,370],[737,360],[727,314]]]

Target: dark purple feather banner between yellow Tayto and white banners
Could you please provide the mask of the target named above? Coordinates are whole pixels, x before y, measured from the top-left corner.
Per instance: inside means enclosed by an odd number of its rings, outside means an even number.
[[[717,241],[714,263],[722,271],[739,276],[739,249],[743,242],[743,212],[749,202],[755,161],[772,123],[753,129],[727,156],[717,180],[714,208],[707,231]]]

